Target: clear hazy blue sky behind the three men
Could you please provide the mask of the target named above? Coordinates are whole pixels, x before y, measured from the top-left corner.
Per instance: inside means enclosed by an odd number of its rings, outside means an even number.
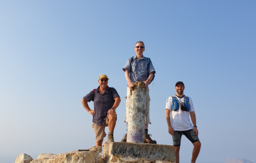
[[[115,128],[120,141],[126,132],[122,67],[139,40],[156,68],[152,139],[172,145],[165,102],[183,81],[202,142],[197,162],[256,162],[255,8],[254,0],[1,0],[0,162],[94,146],[92,116],[81,99],[97,88],[100,74],[122,100]],[[193,145],[182,138],[184,163]]]

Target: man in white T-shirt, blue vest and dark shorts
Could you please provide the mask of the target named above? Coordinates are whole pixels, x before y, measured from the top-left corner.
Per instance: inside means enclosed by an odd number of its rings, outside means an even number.
[[[183,94],[184,89],[185,86],[183,82],[176,82],[175,90],[177,93],[167,99],[165,107],[168,132],[172,135],[177,163],[179,163],[180,140],[182,134],[186,136],[194,146],[191,162],[196,162],[196,158],[198,157],[201,148],[196,127],[196,115],[193,102],[190,97],[186,97]],[[171,113],[172,116],[170,117]],[[193,125],[189,120],[189,116]]]

